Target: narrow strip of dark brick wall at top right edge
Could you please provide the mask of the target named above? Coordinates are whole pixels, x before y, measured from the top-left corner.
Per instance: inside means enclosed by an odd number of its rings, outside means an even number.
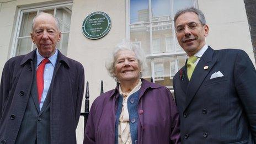
[[[250,38],[252,39],[253,52],[256,61],[256,0],[244,0],[246,14],[250,29]]]

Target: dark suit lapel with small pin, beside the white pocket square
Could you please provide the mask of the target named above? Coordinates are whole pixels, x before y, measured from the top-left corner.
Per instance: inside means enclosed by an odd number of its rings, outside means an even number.
[[[185,109],[194,98],[196,92],[198,92],[198,89],[200,88],[202,82],[204,82],[204,79],[210,72],[211,68],[215,65],[216,60],[212,60],[213,55],[214,50],[209,46],[196,65],[186,90]],[[205,66],[208,66],[206,70],[204,70]]]

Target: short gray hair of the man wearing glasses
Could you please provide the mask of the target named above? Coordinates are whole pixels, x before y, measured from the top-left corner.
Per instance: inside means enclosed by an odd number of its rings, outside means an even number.
[[[202,25],[205,25],[205,24],[206,24],[206,20],[205,20],[205,15],[204,15],[204,13],[202,13],[202,11],[199,10],[199,9],[196,9],[196,8],[194,8],[194,7],[189,7],[189,8],[184,8],[184,9],[178,10],[178,12],[177,12],[177,13],[175,14],[175,16],[174,16],[174,25],[176,25],[175,23],[176,23],[176,20],[177,20],[177,18],[179,17],[179,15],[184,14],[184,13],[188,13],[188,12],[193,12],[193,13],[197,14],[200,23],[201,23]]]

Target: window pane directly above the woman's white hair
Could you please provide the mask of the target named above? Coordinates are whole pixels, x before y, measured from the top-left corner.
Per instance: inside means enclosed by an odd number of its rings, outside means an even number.
[[[146,24],[131,25],[131,41],[140,42],[145,54],[150,54],[150,26]]]

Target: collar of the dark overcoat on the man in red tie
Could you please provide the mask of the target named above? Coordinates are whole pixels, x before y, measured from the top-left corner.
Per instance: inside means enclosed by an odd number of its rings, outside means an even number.
[[[70,67],[70,62],[68,61],[68,58],[64,55],[61,54],[59,50],[58,51],[58,57],[57,57],[57,62],[56,63],[63,63],[65,64],[68,68]],[[26,62],[29,61],[34,61],[34,57],[36,55],[36,49],[29,52],[29,54],[26,54],[24,58],[22,59],[22,62],[20,62],[20,65],[25,65]]]

